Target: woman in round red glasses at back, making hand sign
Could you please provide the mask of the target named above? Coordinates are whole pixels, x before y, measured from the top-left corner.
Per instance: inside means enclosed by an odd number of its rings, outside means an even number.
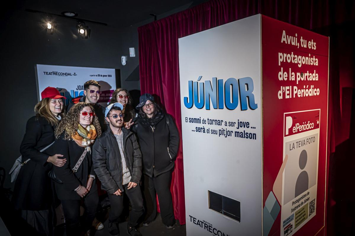
[[[130,119],[133,120],[136,117],[136,111],[132,105],[133,101],[127,89],[119,88],[113,92],[109,105],[116,102],[121,103],[123,106],[122,113],[125,115],[123,119],[124,122],[129,122]]]

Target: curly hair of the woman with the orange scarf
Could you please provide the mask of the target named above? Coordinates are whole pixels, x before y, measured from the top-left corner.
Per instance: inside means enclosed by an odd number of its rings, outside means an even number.
[[[55,138],[58,139],[59,136],[64,133],[64,140],[71,140],[71,136],[75,135],[76,130],[79,126],[80,120],[80,112],[84,107],[90,107],[92,111],[94,111],[94,107],[91,106],[89,103],[86,102],[78,102],[74,106],[72,106],[69,112],[66,114],[66,117],[62,119],[62,122],[55,128],[54,135]],[[94,116],[92,121],[97,133],[97,137],[101,136],[101,127],[99,123],[99,119],[97,116]]]

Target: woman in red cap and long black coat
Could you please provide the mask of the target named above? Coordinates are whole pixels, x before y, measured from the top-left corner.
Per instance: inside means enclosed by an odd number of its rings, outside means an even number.
[[[53,230],[52,188],[48,172],[52,165],[64,165],[60,152],[54,152],[54,128],[63,116],[63,98],[53,87],[45,88],[42,100],[34,107],[35,116],[28,119],[20,146],[23,165],[13,190],[12,203],[20,210],[24,224],[18,230],[26,234],[50,235]],[[40,150],[43,150],[42,152]],[[30,159],[28,162],[24,162]],[[29,229],[28,229],[28,227]],[[35,230],[33,232],[32,230]],[[18,232],[22,234],[22,232]]]

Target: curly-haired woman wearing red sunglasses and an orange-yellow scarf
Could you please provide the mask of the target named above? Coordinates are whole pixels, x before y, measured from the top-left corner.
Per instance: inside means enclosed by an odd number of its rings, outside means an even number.
[[[55,152],[67,162],[54,167],[53,172],[62,182],[55,182],[55,189],[62,203],[66,235],[80,235],[80,203],[85,205],[85,221],[82,231],[90,230],[98,207],[97,185],[92,167],[92,144],[101,136],[94,108],[85,102],[72,106],[66,117],[55,129]]]

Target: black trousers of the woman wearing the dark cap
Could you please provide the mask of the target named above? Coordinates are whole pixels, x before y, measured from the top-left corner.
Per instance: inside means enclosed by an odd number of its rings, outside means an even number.
[[[169,170],[168,172],[153,177],[144,175],[144,185],[146,185],[144,186],[144,190],[147,189],[149,191],[150,196],[147,196],[147,192],[144,192],[144,195],[146,196],[146,199],[151,198],[153,204],[153,212],[146,219],[147,222],[153,221],[157,215],[157,201],[155,201],[155,193],[157,193],[160,207],[160,215],[162,216],[163,224],[167,226],[171,226],[174,224],[175,220],[173,211],[173,200],[171,198],[170,192],[172,172],[173,170]]]

